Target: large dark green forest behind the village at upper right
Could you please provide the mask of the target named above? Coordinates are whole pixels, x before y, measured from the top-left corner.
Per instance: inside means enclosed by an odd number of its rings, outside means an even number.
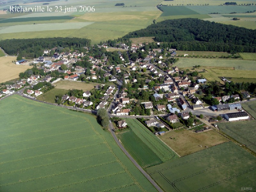
[[[172,48],[187,51],[256,52],[256,30],[199,19],[165,20],[123,38],[155,36],[157,42],[172,42]]]

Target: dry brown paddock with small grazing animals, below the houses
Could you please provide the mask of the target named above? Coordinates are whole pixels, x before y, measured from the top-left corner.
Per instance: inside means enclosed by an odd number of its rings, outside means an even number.
[[[228,141],[213,130],[202,133],[195,133],[186,129],[171,130],[158,137],[180,156],[201,151],[205,149],[205,146],[212,147]],[[199,147],[199,145],[202,147]]]

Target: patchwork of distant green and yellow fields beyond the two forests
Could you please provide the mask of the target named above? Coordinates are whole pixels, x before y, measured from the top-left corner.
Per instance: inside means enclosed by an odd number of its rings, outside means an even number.
[[[204,2],[205,4],[210,4],[209,6],[197,5],[198,3],[196,0],[193,1],[194,6],[187,6],[185,2],[187,1],[180,0],[174,4],[175,6],[163,6],[164,12],[162,12],[156,7],[160,2],[154,0],[131,0],[129,2],[124,2],[124,6],[115,6],[116,2],[104,2],[102,0],[91,0],[86,4],[82,0],[52,1],[47,2],[49,5],[43,5],[45,2],[24,4],[23,1],[18,1],[15,2],[15,4],[17,3],[23,7],[49,6],[55,9],[55,6],[62,6],[63,11],[0,14],[0,40],[60,36],[88,38],[92,40],[92,44],[97,44],[100,43],[100,41],[116,39],[129,32],[146,28],[153,23],[153,20],[158,22],[166,19],[178,18],[198,18],[256,29],[256,15],[244,13],[256,10],[256,6],[218,6],[220,1],[214,1],[214,3],[211,4],[211,1],[207,0]],[[252,3],[251,1],[239,2],[244,2],[246,4]],[[164,1],[161,3],[173,4],[174,2]],[[222,4],[223,3],[225,2],[222,2]],[[184,4],[184,6],[177,6],[177,4]],[[191,2],[189,4],[191,4]],[[2,5],[0,6],[0,9],[7,8],[10,5],[11,3]],[[76,7],[77,12],[64,13],[65,6]],[[79,12],[79,6],[94,6],[95,12]],[[209,14],[212,12],[219,12],[220,14]],[[228,17],[231,12],[245,15],[241,16],[241,20],[233,22],[231,20],[232,18]],[[228,15],[222,16],[221,14]],[[248,18],[246,15],[248,15]],[[87,24],[82,24],[84,22]],[[13,31],[15,31],[15,33]]]

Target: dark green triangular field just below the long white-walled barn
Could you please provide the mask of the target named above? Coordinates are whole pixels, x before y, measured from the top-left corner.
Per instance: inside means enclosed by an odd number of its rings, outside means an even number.
[[[236,121],[236,122],[228,122],[228,123],[218,123],[218,127],[220,128],[221,131],[225,132],[230,137],[234,138],[240,143],[246,145],[247,148],[256,152],[255,124],[256,124],[255,120]]]

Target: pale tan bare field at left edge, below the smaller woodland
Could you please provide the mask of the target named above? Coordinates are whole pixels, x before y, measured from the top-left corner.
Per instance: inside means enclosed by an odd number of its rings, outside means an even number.
[[[16,57],[0,57],[0,83],[18,78],[21,72],[32,68],[32,66],[16,65],[12,63],[13,60],[16,60]]]

